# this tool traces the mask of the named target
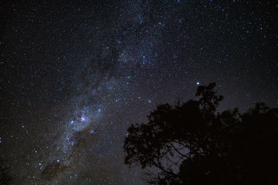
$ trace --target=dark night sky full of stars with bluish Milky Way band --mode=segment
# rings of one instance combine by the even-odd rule
[[[131,123],[216,82],[278,105],[275,1],[1,1],[0,154],[16,183],[143,184]]]

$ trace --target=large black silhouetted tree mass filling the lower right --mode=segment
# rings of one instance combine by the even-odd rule
[[[215,113],[223,99],[215,83],[196,96],[131,124],[125,163],[149,170],[150,184],[278,184],[278,109],[258,103]]]

